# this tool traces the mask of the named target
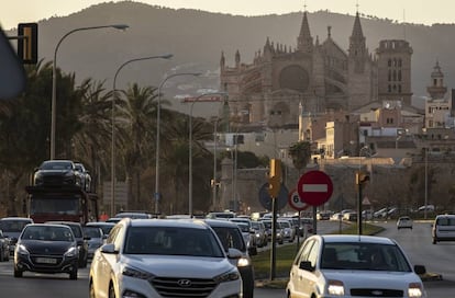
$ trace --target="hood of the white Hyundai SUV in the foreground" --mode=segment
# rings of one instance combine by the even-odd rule
[[[157,276],[213,278],[234,266],[224,257],[179,255],[130,255],[125,265],[141,268]],[[198,270],[200,268],[200,270]]]

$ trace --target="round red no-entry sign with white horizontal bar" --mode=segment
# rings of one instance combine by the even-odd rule
[[[332,196],[333,183],[324,172],[310,171],[300,176],[297,192],[302,202],[311,206],[320,206]]]

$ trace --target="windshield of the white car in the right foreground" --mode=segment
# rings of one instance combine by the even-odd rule
[[[390,244],[325,243],[320,262],[324,270],[411,271],[401,250]]]

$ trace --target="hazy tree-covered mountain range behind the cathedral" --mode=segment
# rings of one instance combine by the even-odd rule
[[[315,39],[323,42],[328,26],[335,43],[347,50],[354,24],[354,14],[332,13],[329,10],[308,13],[310,31]],[[407,39],[413,48],[412,91],[413,104],[422,106],[431,83],[431,72],[436,61],[445,74],[445,84],[455,88],[454,24],[399,23],[360,14],[362,27],[370,54],[381,39]],[[255,53],[262,50],[267,37],[275,44],[295,48],[300,31],[302,12],[242,16],[211,13],[201,10],[169,9],[134,1],[104,2],[91,5],[66,16],[30,20],[38,23],[38,55],[44,61],[53,60],[56,45],[65,34],[75,28],[107,24],[127,24],[129,28],[75,32],[66,36],[58,47],[57,67],[75,72],[81,81],[92,78],[106,81],[113,88],[113,78],[120,66],[134,58],[173,54],[169,60],[151,59],[132,62],[122,68],[116,88],[129,83],[158,87],[170,73],[202,72],[200,78],[178,76],[166,81],[164,96],[197,95],[219,88],[219,66],[223,51],[228,66],[234,65],[238,49],[241,60],[251,64]],[[13,36],[15,30],[7,35]],[[199,92],[199,93],[198,93]],[[188,105],[171,100],[173,106],[188,112]],[[198,104],[195,115],[208,116],[218,104]]]

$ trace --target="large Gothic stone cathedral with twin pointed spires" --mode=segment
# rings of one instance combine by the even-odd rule
[[[295,48],[266,39],[253,62],[220,59],[220,90],[229,93],[230,122],[241,126],[296,128],[301,113],[352,112],[374,101],[411,104],[412,48],[402,39],[366,47],[358,12],[348,48],[341,48],[328,27],[326,37],[311,35],[303,11]]]

